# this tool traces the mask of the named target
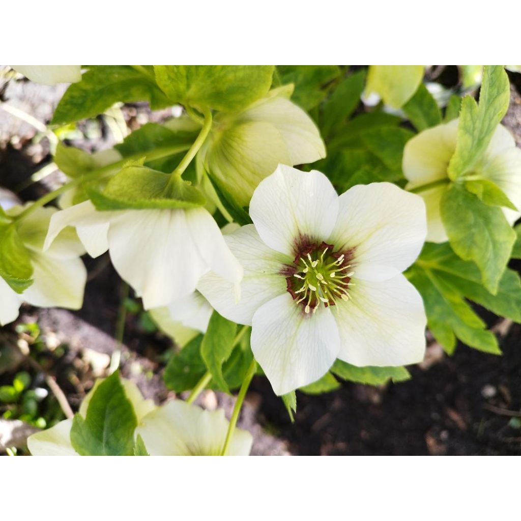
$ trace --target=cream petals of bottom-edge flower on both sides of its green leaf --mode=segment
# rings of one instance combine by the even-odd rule
[[[86,417],[89,402],[97,380],[85,396],[80,415]],[[121,378],[127,398],[134,407],[138,420],[135,437],[141,435],[151,456],[213,456],[219,455],[226,440],[228,420],[222,409],[204,411],[201,407],[181,400],[172,400],[156,407],[152,400],[144,400],[138,387]],[[70,442],[72,419],[60,421],[50,429],[29,437],[27,445],[33,456],[79,456]],[[234,429],[227,456],[247,456],[252,448],[252,435],[242,429]]]

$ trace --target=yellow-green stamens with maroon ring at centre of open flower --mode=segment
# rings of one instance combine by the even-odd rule
[[[295,259],[296,271],[288,277],[288,291],[305,313],[315,313],[320,303],[336,304],[337,299],[350,299],[349,287],[353,271],[344,254],[335,256],[332,246],[304,253]]]

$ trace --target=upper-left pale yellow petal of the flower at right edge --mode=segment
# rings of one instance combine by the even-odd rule
[[[402,169],[407,188],[448,177],[447,167],[456,150],[457,120],[424,130],[407,141]]]

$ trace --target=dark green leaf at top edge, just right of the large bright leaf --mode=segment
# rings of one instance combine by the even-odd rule
[[[326,86],[340,76],[337,65],[278,65],[280,82],[293,83],[291,97],[304,110],[316,107],[327,95]]]

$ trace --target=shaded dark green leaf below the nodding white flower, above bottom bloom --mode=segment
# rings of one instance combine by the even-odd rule
[[[192,339],[178,353],[170,357],[165,368],[165,385],[175,392],[193,389],[206,373],[206,365],[201,358],[203,335]]]

